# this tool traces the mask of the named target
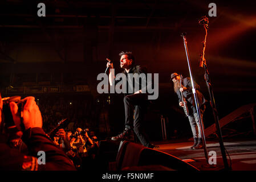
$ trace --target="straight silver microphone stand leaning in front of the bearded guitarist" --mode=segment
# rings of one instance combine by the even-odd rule
[[[197,115],[198,115],[198,118],[199,118],[199,123],[200,123],[200,130],[201,130],[201,134],[202,134],[202,142],[203,142],[203,146],[204,146],[205,159],[206,159],[206,163],[209,164],[208,151],[207,151],[206,142],[205,142],[205,133],[204,133],[203,125],[202,125],[201,111],[200,111],[200,107],[199,107],[199,104],[198,104],[196,89],[194,88],[194,81],[193,81],[193,76],[192,76],[192,71],[191,71],[190,60],[189,60],[188,47],[186,45],[185,33],[182,33],[181,36],[183,37],[183,40],[184,40],[184,46],[185,46],[185,51],[186,51],[186,59],[188,60],[189,74],[190,74],[190,79],[191,79],[191,82],[192,82],[192,92],[193,92],[194,102],[195,102],[196,109],[197,109]]]

